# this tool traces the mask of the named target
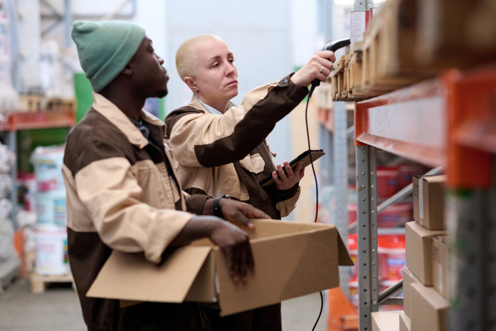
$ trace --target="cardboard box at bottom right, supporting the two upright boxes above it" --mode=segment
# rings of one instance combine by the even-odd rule
[[[449,301],[434,287],[412,284],[412,331],[448,330]]]

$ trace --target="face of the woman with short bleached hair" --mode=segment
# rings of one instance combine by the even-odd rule
[[[207,40],[197,47],[198,63],[193,77],[197,95],[205,103],[227,102],[238,95],[238,69],[222,40]]]

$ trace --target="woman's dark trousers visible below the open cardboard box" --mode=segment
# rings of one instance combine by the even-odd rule
[[[203,306],[202,310],[211,331],[282,331],[280,303],[226,317],[220,317],[216,308]]]

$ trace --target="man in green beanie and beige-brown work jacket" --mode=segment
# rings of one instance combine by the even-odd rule
[[[142,110],[146,98],[167,94],[169,79],[145,31],[122,21],[76,21],[71,35],[95,91],[67,138],[62,166],[69,262],[88,330],[208,330],[197,303],[121,308],[118,300],[86,297],[113,250],[158,264],[166,249],[206,237],[226,253],[235,281],[254,265],[248,235],[210,216],[214,199],[181,190],[164,124]],[[240,201],[215,203],[230,221],[269,218]]]

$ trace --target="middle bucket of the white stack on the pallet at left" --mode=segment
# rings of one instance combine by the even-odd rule
[[[35,195],[38,223],[67,224],[65,191],[49,191]]]

